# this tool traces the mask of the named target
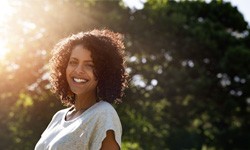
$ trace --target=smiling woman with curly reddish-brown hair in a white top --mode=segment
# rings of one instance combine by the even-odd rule
[[[121,36],[80,32],[60,41],[50,60],[52,91],[69,108],[52,118],[35,150],[118,150],[122,127],[110,103],[127,86]]]

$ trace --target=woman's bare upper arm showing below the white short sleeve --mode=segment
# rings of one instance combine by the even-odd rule
[[[114,131],[108,130],[105,139],[102,141],[101,150],[119,150],[120,147],[115,140]]]

